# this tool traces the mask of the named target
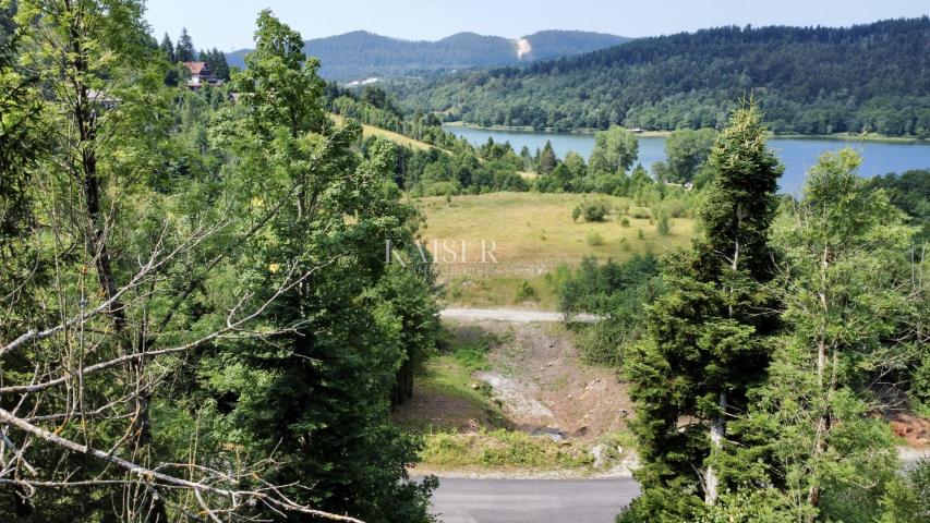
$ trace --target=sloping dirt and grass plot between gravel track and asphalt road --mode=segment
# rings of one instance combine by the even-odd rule
[[[447,320],[399,423],[426,435],[416,473],[627,475],[631,415],[615,370],[584,364],[559,324]]]

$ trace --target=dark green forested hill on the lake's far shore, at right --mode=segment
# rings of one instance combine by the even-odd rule
[[[752,93],[776,132],[930,134],[930,20],[721,27],[400,85],[409,109],[483,125],[724,125]]]

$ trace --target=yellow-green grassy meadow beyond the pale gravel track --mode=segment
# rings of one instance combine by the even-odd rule
[[[604,221],[572,220],[572,209],[585,198],[611,206]],[[492,193],[426,197],[416,205],[426,217],[422,236],[447,284],[447,297],[462,306],[551,308],[555,290],[545,275],[559,266],[578,265],[585,256],[624,260],[636,253],[660,255],[689,241],[695,228],[692,219],[673,218],[671,233],[662,235],[650,209],[601,195]],[[492,247],[496,263],[487,255]]]

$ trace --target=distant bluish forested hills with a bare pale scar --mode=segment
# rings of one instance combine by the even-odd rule
[[[438,41],[401,40],[357,31],[304,42],[304,52],[321,59],[329,80],[360,80],[439,70],[498,68],[589,52],[627,38],[580,31],[544,31],[511,40],[500,36],[458,33]],[[522,46],[520,44],[523,44]],[[227,56],[243,66],[249,49]]]

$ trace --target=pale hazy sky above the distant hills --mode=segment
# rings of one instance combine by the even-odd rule
[[[188,27],[197,48],[252,47],[255,19],[270,8],[304,39],[364,29],[436,40],[470,31],[517,38],[542,29],[655,36],[721,25],[846,26],[930,13],[926,0],[148,0],[161,39]]]

